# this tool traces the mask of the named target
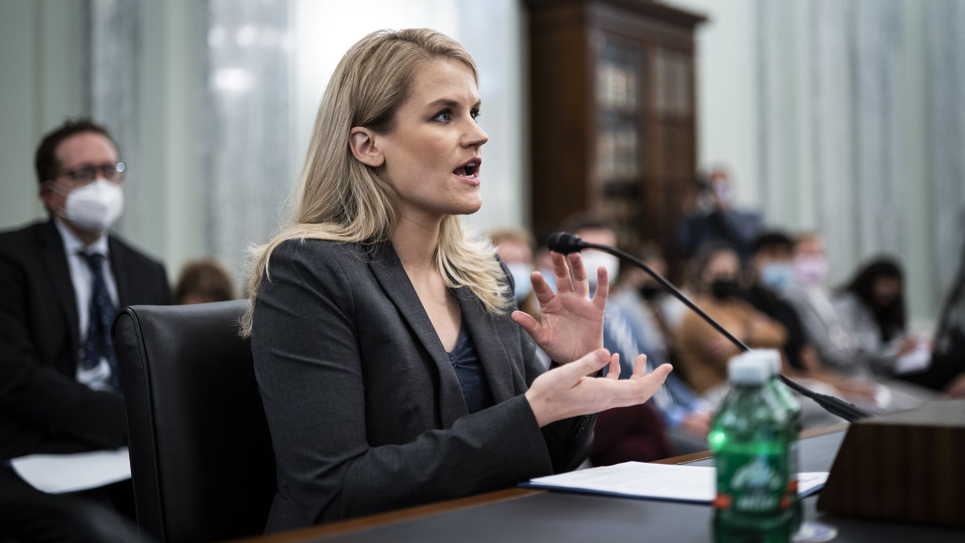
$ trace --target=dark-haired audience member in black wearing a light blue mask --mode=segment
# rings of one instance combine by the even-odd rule
[[[783,352],[788,366],[784,372],[788,376],[816,379],[848,396],[873,397],[873,386],[847,379],[822,366],[797,311],[782,300],[795,280],[793,248],[793,241],[781,232],[768,232],[758,238],[750,262],[751,286],[744,292],[744,300],[787,330]]]

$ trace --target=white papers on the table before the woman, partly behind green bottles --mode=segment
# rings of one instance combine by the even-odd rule
[[[823,486],[827,479],[827,472],[798,473],[798,494],[811,494]],[[710,503],[717,492],[717,470],[701,466],[624,462],[616,466],[538,477],[523,486],[631,498]]]

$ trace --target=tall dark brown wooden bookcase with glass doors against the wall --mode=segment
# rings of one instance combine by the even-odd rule
[[[694,29],[703,16],[646,0],[526,0],[532,218],[554,230],[593,211],[620,244],[674,259],[696,175]]]

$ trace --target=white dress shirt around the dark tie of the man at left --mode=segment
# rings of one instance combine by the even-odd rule
[[[103,255],[101,260],[101,272],[104,275],[104,282],[107,284],[107,293],[114,302],[114,307],[118,307],[118,286],[114,280],[114,273],[111,272],[110,254],[107,252],[107,235],[102,235],[90,246],[81,242],[70,229],[65,225],[60,217],[54,218],[57,231],[60,232],[61,239],[64,241],[64,252],[67,255],[67,264],[70,271],[70,282],[73,284],[73,294],[77,302],[77,324],[80,328],[80,350],[77,355],[77,382],[90,386],[95,390],[111,389],[111,367],[107,358],[101,357],[100,363],[93,369],[84,368],[80,352],[83,352],[84,341],[87,340],[87,327],[91,317],[91,296],[94,291],[94,274],[91,272],[87,261],[79,253],[96,253]]]

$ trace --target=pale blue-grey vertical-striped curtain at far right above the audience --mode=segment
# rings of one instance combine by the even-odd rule
[[[758,0],[760,196],[817,230],[831,280],[895,256],[934,319],[965,243],[965,6]]]

